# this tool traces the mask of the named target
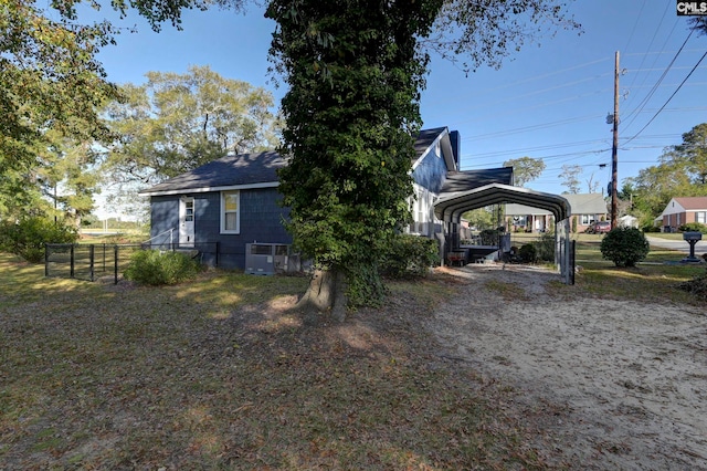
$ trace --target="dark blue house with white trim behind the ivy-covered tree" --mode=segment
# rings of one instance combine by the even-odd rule
[[[509,167],[460,170],[460,140],[458,133],[446,127],[420,132],[411,163],[413,222],[407,232],[444,238],[440,234],[446,228],[434,212],[442,196],[488,184],[513,184]],[[277,169],[285,165],[273,151],[230,155],[141,191],[150,198],[151,244],[190,248],[207,264],[246,271],[251,255],[276,259],[292,243],[283,226],[288,210],[279,205],[277,191]]]

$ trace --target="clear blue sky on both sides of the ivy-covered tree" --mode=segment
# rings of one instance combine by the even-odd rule
[[[527,185],[532,189],[567,190],[559,174],[569,164],[583,168],[582,192],[590,180],[605,191],[612,146],[606,115],[613,113],[616,51],[623,71],[620,181],[656,164],[665,147],[682,143],[683,133],[707,122],[707,60],[686,80],[707,52],[707,36],[694,33],[688,40],[687,21],[676,15],[675,4],[674,0],[570,2],[583,34],[561,30],[541,36],[539,44],[515,52],[500,70],[486,67],[466,76],[433,57],[422,98],[424,126],[461,133],[462,169],[499,167],[529,156],[542,158],[547,167]],[[262,10],[189,11],[182,31],[166,25],[154,33],[135,14],[123,24],[137,24],[138,32],[119,35],[118,45],[99,55],[113,82],[137,84],[148,71],[184,73],[189,65],[209,65],[225,77],[263,86],[277,100],[285,93],[267,75],[274,23],[263,18]]]

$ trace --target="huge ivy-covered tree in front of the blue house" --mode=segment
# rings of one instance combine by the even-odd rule
[[[499,51],[528,36],[519,18],[555,20],[556,7],[544,0],[483,8],[443,0],[270,1],[266,15],[277,22],[271,54],[289,86],[282,148],[289,165],[279,188],[296,245],[321,269],[303,305],[334,305],[339,313],[344,292],[349,305],[383,296],[378,263],[409,218],[411,135],[421,124],[430,49],[465,53],[472,67],[497,65]]]

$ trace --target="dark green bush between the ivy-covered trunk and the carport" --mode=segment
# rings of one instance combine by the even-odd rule
[[[440,248],[433,239],[398,234],[381,261],[381,273],[392,278],[424,276],[440,260]]]

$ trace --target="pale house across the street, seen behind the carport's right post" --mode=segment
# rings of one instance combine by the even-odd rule
[[[584,232],[594,222],[608,219],[606,201],[601,193],[562,195],[570,203],[572,213],[570,221],[577,232]],[[510,232],[545,232],[555,224],[549,211],[531,208],[525,205],[506,205],[506,224]]]

